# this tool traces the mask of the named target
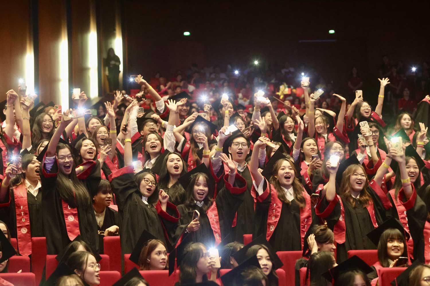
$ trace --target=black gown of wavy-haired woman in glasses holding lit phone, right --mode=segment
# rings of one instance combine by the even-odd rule
[[[370,189],[370,188],[369,188]],[[369,191],[368,189],[368,191]],[[372,191],[371,191],[372,192]],[[369,192],[370,193],[370,192]],[[371,193],[372,196],[372,193]],[[347,200],[342,199],[345,211],[345,242],[343,244],[337,244],[337,259],[338,263],[348,259],[348,250],[367,250],[376,249],[377,246],[367,237],[367,234],[374,230],[372,219],[369,215],[369,211],[361,205],[359,200],[356,200],[356,207],[354,208]],[[384,208],[378,200],[373,199],[375,217],[379,224],[384,222],[384,218],[381,216],[381,211]],[[324,211],[329,205],[329,202],[324,196],[317,207],[319,211]],[[327,226],[333,230],[335,224],[338,222],[341,216],[341,205],[338,202],[331,214],[326,217]]]

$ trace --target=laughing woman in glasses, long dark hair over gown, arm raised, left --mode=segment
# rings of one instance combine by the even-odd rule
[[[43,229],[48,254],[59,253],[77,235],[81,235],[93,250],[98,251],[97,223],[89,190],[77,178],[70,145],[58,143],[60,135],[71,122],[67,118],[68,111],[65,111],[42,160]],[[90,177],[100,180],[100,169],[94,166],[90,170],[92,174],[80,176],[82,180]],[[82,168],[87,171],[89,167]]]

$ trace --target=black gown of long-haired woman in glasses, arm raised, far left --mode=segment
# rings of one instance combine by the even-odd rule
[[[93,170],[98,172],[98,176],[100,176],[100,167]],[[46,236],[47,254],[58,254],[71,242],[64,222],[61,196],[55,187],[57,184],[57,174],[58,166],[56,163],[52,166],[51,173],[46,173],[45,169],[40,173],[40,181],[42,183],[43,232]],[[87,182],[91,181],[88,180]],[[83,183],[85,185],[85,181]],[[97,222],[95,221],[92,205],[78,205],[77,212],[81,237],[94,251],[98,251]]]

